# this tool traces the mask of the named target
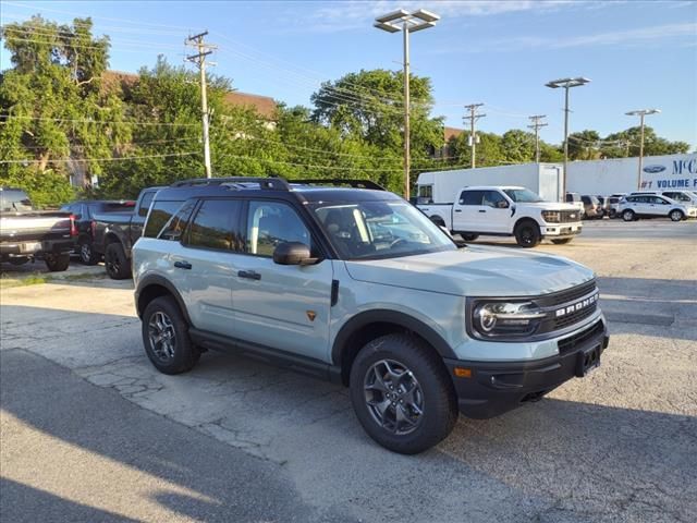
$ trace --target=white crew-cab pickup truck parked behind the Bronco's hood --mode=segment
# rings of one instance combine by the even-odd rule
[[[535,247],[543,238],[568,243],[583,228],[575,206],[545,202],[525,187],[472,186],[454,196],[452,204],[417,206],[435,223],[469,242],[480,234],[515,236],[522,247]]]

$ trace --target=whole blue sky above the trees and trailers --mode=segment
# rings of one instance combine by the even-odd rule
[[[478,127],[525,129],[547,114],[541,136],[560,143],[561,90],[550,80],[586,76],[572,90],[571,131],[626,129],[628,110],[659,108],[647,123],[697,148],[697,2],[694,1],[332,1],[332,2],[21,2],[2,1],[2,23],[41,13],[58,22],[93,16],[112,39],[111,68],[137,71],[159,53],[181,63],[183,40],[208,29],[219,46],[215,72],[240,90],[309,105],[325,80],[360,69],[399,69],[399,34],[372,27],[395,9],[441,15],[412,36],[412,68],[431,77],[435,115],[463,126],[463,106],[484,102]],[[10,65],[2,49],[0,66]]]

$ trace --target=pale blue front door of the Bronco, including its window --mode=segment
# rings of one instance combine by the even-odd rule
[[[278,265],[273,263],[273,250],[282,242],[305,243],[316,255],[316,243],[293,207],[284,202],[249,202],[245,254],[235,256],[235,336],[326,361],[331,260],[309,266]]]

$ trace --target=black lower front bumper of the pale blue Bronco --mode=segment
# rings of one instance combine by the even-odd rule
[[[530,362],[468,362],[444,360],[453,378],[460,412],[484,419],[536,401],[564,381],[583,376],[588,354],[598,356],[610,337],[604,321],[598,321],[559,340],[559,354]],[[457,377],[456,368],[469,369]]]

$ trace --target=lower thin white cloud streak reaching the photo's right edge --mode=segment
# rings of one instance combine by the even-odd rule
[[[540,37],[521,36],[513,38],[500,38],[479,41],[477,46],[450,47],[436,51],[438,54],[451,52],[506,52],[528,49],[570,49],[575,47],[639,47],[644,44],[656,45],[661,40],[674,40],[677,38],[697,38],[697,23],[678,23],[655,25],[609,33],[596,33],[591,35]]]

